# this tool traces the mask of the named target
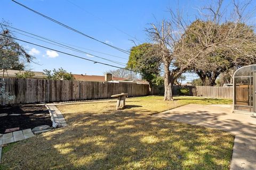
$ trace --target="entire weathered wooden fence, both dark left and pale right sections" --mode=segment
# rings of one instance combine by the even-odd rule
[[[132,97],[159,95],[164,92],[163,87],[151,89],[150,92],[148,84],[46,79],[4,78],[4,86],[5,91],[14,96],[14,99],[2,100],[0,101],[1,105],[107,99],[111,98],[111,95],[120,94],[121,92]],[[233,87],[173,86],[173,95],[181,95],[179,92],[181,88],[189,89],[187,95],[190,96],[233,98]]]

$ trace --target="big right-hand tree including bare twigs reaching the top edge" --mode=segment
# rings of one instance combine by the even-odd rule
[[[197,20],[185,27],[177,45],[183,49],[180,58],[191,60],[190,69],[204,85],[213,86],[220,73],[233,73],[237,67],[256,62],[254,28],[244,18],[250,2],[242,5],[234,1],[233,12],[227,14],[218,1],[199,10]]]

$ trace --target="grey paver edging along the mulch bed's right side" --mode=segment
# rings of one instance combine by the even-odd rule
[[[67,126],[67,122],[66,122],[64,116],[62,115],[62,113],[59,111],[59,109],[56,106],[45,105],[45,107],[48,109],[48,111],[50,113],[51,120],[52,120],[53,124],[57,124],[57,126],[59,126],[59,127]]]

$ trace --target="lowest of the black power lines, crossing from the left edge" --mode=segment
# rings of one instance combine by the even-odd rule
[[[66,55],[69,55],[69,56],[73,56],[73,57],[76,57],[76,58],[81,58],[81,59],[83,59],[83,60],[87,60],[87,61],[93,62],[94,64],[99,63],[99,64],[103,64],[103,65],[108,65],[108,66],[111,66],[111,67],[116,67],[116,68],[118,68],[118,69],[124,69],[124,70],[133,71],[133,70],[126,69],[126,68],[123,68],[123,67],[118,67],[118,66],[111,65],[111,64],[106,64],[106,63],[102,63],[102,62],[97,62],[97,61],[94,61],[94,60],[90,60],[90,59],[88,59],[88,58],[84,58],[84,57],[81,57],[81,56],[77,56],[77,55],[69,54],[69,53],[62,52],[62,51],[57,50],[57,49],[53,49],[53,48],[49,48],[49,47],[45,47],[45,46],[38,45],[38,44],[35,44],[35,43],[30,43],[29,41],[21,40],[21,39],[14,38],[14,37],[11,37],[11,36],[6,36],[6,35],[3,35],[2,33],[0,33],[0,35],[1,35],[1,36],[5,36],[5,37],[9,37],[9,38],[12,38],[12,39],[15,39],[15,40],[18,40],[18,41],[22,41],[22,42],[24,42],[24,43],[28,43],[28,44],[31,44],[31,45],[35,45],[35,46],[38,46],[38,47],[42,47],[42,48],[46,48],[46,49],[50,49],[50,50],[54,50],[55,52],[59,52],[59,53],[66,54]],[[135,72],[135,71],[133,71],[133,72]]]

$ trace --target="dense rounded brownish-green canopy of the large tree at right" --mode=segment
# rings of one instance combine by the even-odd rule
[[[180,42],[181,55],[193,61],[191,69],[205,86],[213,86],[223,72],[256,62],[256,36],[245,23],[196,20]]]

